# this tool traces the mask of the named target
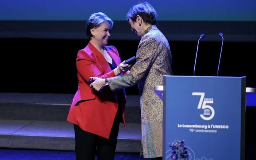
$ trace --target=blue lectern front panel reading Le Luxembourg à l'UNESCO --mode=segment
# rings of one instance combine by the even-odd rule
[[[169,143],[184,140],[189,160],[242,160],[245,79],[165,76],[164,157],[178,153]]]

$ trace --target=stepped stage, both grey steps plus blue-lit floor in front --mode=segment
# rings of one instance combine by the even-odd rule
[[[75,160],[74,130],[66,122],[71,94],[0,93],[0,160]],[[256,107],[246,108],[246,159],[256,150]],[[128,96],[115,160],[141,160],[140,102]]]

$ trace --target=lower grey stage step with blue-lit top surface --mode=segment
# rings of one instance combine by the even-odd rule
[[[120,124],[116,152],[140,152],[141,125]],[[73,124],[60,121],[0,120],[0,148],[74,150]]]

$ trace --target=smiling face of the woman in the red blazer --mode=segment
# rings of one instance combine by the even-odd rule
[[[110,24],[108,22],[103,22],[98,28],[92,28],[91,33],[94,35],[94,40],[99,45],[107,45],[108,38],[110,37]]]

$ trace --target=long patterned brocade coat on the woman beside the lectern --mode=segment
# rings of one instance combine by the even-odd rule
[[[163,85],[163,75],[172,75],[172,55],[166,37],[153,25],[140,40],[136,64],[130,74],[108,78],[111,90],[138,84],[141,109],[141,154],[144,158],[162,156],[162,100],[154,93],[154,86]]]

